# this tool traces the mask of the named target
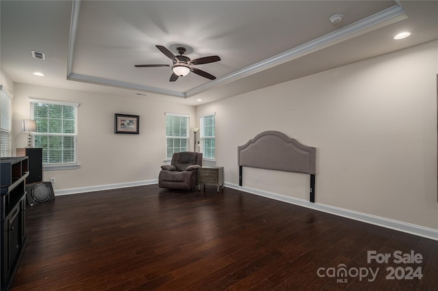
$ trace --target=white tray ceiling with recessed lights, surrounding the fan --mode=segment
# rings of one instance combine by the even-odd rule
[[[438,1],[1,1],[16,83],[201,105],[438,39]],[[340,23],[331,16],[343,14]],[[394,40],[400,31],[409,38]],[[155,45],[221,60],[170,82]],[[31,50],[45,53],[35,59]],[[43,72],[36,77],[33,72]],[[202,99],[202,101],[198,101]]]

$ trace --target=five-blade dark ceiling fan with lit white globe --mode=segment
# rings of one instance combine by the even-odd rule
[[[198,59],[190,59],[189,57],[186,57],[183,55],[185,53],[185,48],[182,46],[177,47],[177,51],[179,55],[174,55],[171,51],[168,50],[168,48],[164,46],[156,45],[156,47],[164,53],[169,59],[172,59],[172,65],[165,65],[165,64],[159,64],[159,65],[135,65],[137,68],[151,68],[151,67],[170,67],[172,68],[172,75],[170,76],[170,82],[175,82],[179,77],[186,76],[189,72],[194,72],[195,74],[198,74],[199,76],[202,76],[204,78],[214,80],[216,77],[214,77],[212,74],[209,74],[203,70],[199,70],[198,68],[193,68],[194,65],[201,65],[201,64],[209,64],[213,63],[214,61],[220,61],[220,57],[217,55],[211,55],[209,57],[200,57]]]

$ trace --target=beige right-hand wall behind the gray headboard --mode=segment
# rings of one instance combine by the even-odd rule
[[[238,184],[237,146],[278,130],[317,148],[317,203],[438,230],[437,51],[430,42],[196,113],[216,112],[229,184]],[[244,186],[309,199],[307,175],[244,168]]]

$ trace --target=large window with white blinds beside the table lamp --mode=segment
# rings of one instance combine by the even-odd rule
[[[42,148],[46,166],[77,165],[77,107],[66,102],[31,100],[31,119],[36,122],[34,147]]]

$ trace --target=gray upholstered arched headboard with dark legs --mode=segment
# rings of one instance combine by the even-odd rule
[[[279,131],[269,130],[237,147],[237,164],[240,186],[242,167],[310,174],[310,201],[315,202],[316,148],[304,146]]]

